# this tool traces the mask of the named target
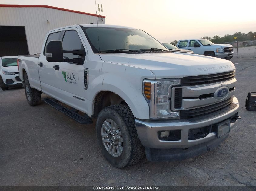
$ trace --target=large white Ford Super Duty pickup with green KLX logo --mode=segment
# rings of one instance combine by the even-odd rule
[[[230,61],[174,54],[131,27],[51,30],[40,56],[18,56],[18,65],[28,103],[39,104],[44,93],[46,103],[79,123],[97,119],[102,154],[118,168],[145,153],[149,161],[202,154],[240,119]]]

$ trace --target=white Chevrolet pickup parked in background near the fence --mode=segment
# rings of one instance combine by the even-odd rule
[[[233,46],[230,44],[214,44],[207,39],[179,40],[177,46],[180,49],[191,50],[194,54],[201,54],[230,60],[233,58]]]

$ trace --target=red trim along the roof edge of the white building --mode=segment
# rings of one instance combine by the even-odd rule
[[[57,10],[61,10],[61,11],[68,11],[68,12],[79,13],[79,14],[87,14],[87,15],[91,15],[91,16],[95,16],[95,17],[105,18],[105,16],[101,16],[101,15],[98,15],[98,14],[85,13],[85,12],[81,12],[81,11],[74,11],[74,10],[70,10],[70,9],[64,9],[64,8],[53,7],[53,6],[48,6],[48,5],[8,5],[8,4],[0,4],[0,7],[43,7],[43,8],[57,9]]]

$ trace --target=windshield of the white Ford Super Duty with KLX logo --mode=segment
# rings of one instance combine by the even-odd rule
[[[138,29],[115,27],[98,27],[97,29],[97,27],[84,27],[83,31],[94,53],[109,50],[135,50],[141,52],[140,49],[151,48],[154,48],[154,51],[156,49],[169,51],[153,37]]]

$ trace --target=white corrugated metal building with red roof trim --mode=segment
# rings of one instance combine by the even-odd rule
[[[105,16],[47,5],[0,4],[0,56],[39,53],[49,30],[73,24],[105,24]]]

